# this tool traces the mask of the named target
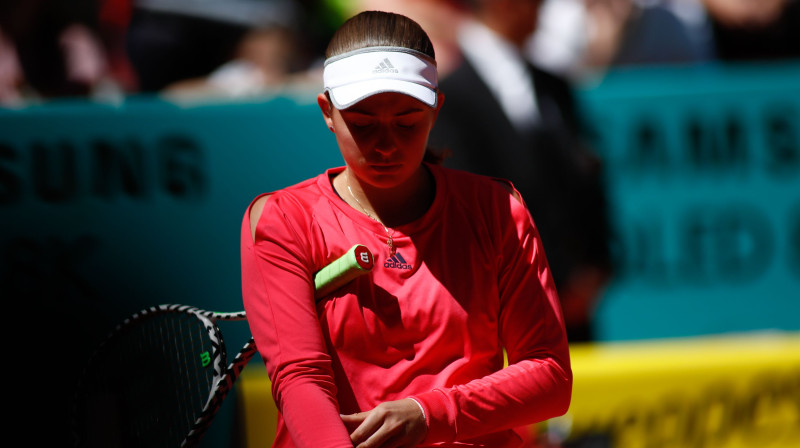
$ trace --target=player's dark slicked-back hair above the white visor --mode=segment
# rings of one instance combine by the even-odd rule
[[[383,11],[364,11],[347,19],[334,33],[325,57],[369,47],[403,47],[436,59],[428,34],[406,16]]]

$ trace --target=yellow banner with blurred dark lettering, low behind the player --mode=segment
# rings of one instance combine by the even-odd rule
[[[800,447],[800,333],[579,344],[569,412],[549,443],[616,448]],[[237,384],[247,447],[270,446],[277,411],[259,363]]]

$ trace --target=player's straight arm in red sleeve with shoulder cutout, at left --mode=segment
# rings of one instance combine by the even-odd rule
[[[259,198],[242,222],[242,297],[248,322],[294,444],[351,448],[316,313],[311,263],[303,258],[311,252],[307,235],[275,202]]]

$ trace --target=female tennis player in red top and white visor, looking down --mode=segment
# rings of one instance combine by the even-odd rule
[[[572,391],[524,201],[426,160],[444,96],[418,24],[361,13],[326,57],[318,103],[346,166],[256,198],[242,226],[274,446],[519,446],[514,428],[563,414]],[[375,268],[315,302],[313,273],[353,244]]]

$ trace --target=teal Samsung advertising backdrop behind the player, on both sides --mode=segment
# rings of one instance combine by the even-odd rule
[[[617,70],[579,94],[615,229],[600,341],[800,330],[800,64]],[[131,312],[241,309],[251,199],[341,164],[312,92],[0,110],[0,297],[31,415],[68,414]],[[234,419],[226,405],[209,446]],[[63,437],[55,420],[34,437]]]

